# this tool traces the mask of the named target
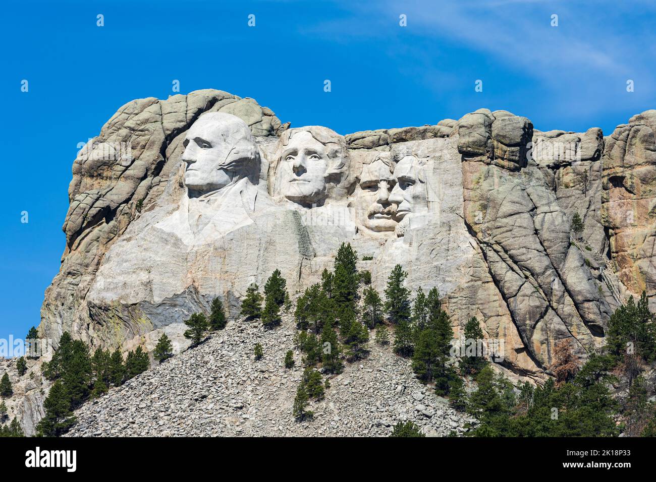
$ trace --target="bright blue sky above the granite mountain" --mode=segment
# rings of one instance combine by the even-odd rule
[[[608,135],[656,108],[656,6],[646,0],[23,1],[3,11],[0,338],[39,324],[64,251],[77,144],[129,100],[173,94],[174,79],[182,93],[227,90],[293,126],[342,134],[486,107],[543,131]]]

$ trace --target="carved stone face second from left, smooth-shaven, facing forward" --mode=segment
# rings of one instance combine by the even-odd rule
[[[295,203],[316,203],[325,196],[330,159],[310,132],[295,133],[281,155],[281,192]]]

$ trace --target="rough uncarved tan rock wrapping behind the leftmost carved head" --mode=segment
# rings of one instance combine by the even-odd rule
[[[201,113],[216,111],[241,117],[258,136],[276,136],[285,129],[271,110],[253,99],[198,90],[167,100],[129,102],[78,153],[63,227],[66,248],[60,272],[45,294],[41,336],[58,340],[69,331],[99,345],[150,331],[152,323],[126,315],[119,306],[96,306],[84,300],[104,255],[138,212],[163,197],[174,202],[180,196],[175,177],[180,168],[180,136]]]

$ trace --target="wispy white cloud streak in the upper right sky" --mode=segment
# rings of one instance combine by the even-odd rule
[[[414,56],[426,78],[453,77],[459,70],[471,73],[480,66],[481,71],[491,72],[488,79],[493,74],[532,79],[529,85],[535,102],[550,102],[544,108],[570,118],[590,117],[600,110],[644,110],[656,102],[656,4],[647,0],[336,4],[341,10],[337,18],[305,28],[345,44],[364,37],[380,39],[388,50],[394,49],[390,45],[395,40],[398,50],[414,43],[418,46]],[[398,28],[400,14],[407,15],[407,29]],[[557,27],[551,26],[552,14],[558,15]],[[426,45],[434,45],[434,50],[422,50]],[[440,49],[462,50],[461,64],[437,62]],[[453,56],[449,60],[453,62]],[[640,85],[628,97],[627,79]],[[524,92],[526,86],[521,86]],[[434,89],[441,88],[442,83],[435,83]],[[497,100],[509,104],[514,99],[509,93]]]

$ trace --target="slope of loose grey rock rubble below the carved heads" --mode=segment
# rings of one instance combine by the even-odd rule
[[[267,331],[260,323],[231,321],[203,344],[184,351],[75,412],[66,436],[323,435],[385,436],[400,420],[413,420],[426,435],[465,431],[472,422],[415,378],[410,361],[369,343],[369,357],[329,376],[330,388],[297,422],[292,405],[302,376],[285,369],[296,332],[289,317]],[[255,361],[253,346],[264,357]]]

